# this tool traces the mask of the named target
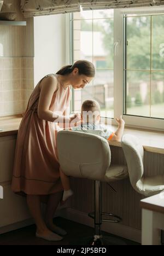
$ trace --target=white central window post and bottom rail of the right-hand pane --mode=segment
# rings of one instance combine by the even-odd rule
[[[150,10],[151,10],[151,14],[156,14],[156,10],[154,12],[152,11],[152,9]],[[147,117],[137,117],[137,116],[134,117],[131,115],[123,115],[124,113],[123,11],[125,13],[125,10],[122,10],[122,9],[114,10],[114,42],[119,42],[117,54],[116,56],[114,56],[114,118],[122,115],[123,119],[125,120],[126,126],[128,127],[164,131],[164,120],[157,119],[157,118],[147,118]],[[133,13],[135,13],[135,11],[136,10],[133,10]],[[131,14],[132,14],[132,11],[131,11]],[[139,14],[139,11],[137,11],[137,14]],[[115,121],[113,122],[113,124],[116,124]]]

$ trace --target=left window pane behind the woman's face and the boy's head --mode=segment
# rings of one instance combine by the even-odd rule
[[[114,117],[113,10],[82,11],[72,15],[73,62],[85,59],[94,63],[96,77],[83,90],[74,91],[74,111],[87,99],[97,100],[101,115]]]

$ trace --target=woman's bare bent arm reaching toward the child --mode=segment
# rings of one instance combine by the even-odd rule
[[[48,77],[43,79],[41,83],[42,87],[38,103],[38,117],[46,121],[58,123],[59,116],[55,115],[51,110],[49,110],[52,96],[57,90],[57,80],[55,77]],[[66,117],[62,117],[62,120],[64,123],[69,122],[68,118]]]

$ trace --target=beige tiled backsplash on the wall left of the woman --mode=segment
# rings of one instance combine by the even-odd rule
[[[0,58],[1,117],[24,113],[33,88],[33,58]]]

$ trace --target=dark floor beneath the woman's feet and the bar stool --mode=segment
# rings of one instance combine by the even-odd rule
[[[86,242],[83,242],[82,238],[93,235],[94,230],[89,226],[63,218],[56,218],[54,222],[68,232],[60,242],[49,242],[37,238],[35,236],[36,226],[31,225],[0,235],[0,245],[87,245]],[[103,232],[103,235],[109,237],[108,233]],[[110,235],[110,237],[112,237],[113,241],[117,239],[117,237],[113,235]],[[121,243],[122,241],[125,245],[139,245],[139,243],[121,238]],[[112,245],[112,243],[110,244]]]

